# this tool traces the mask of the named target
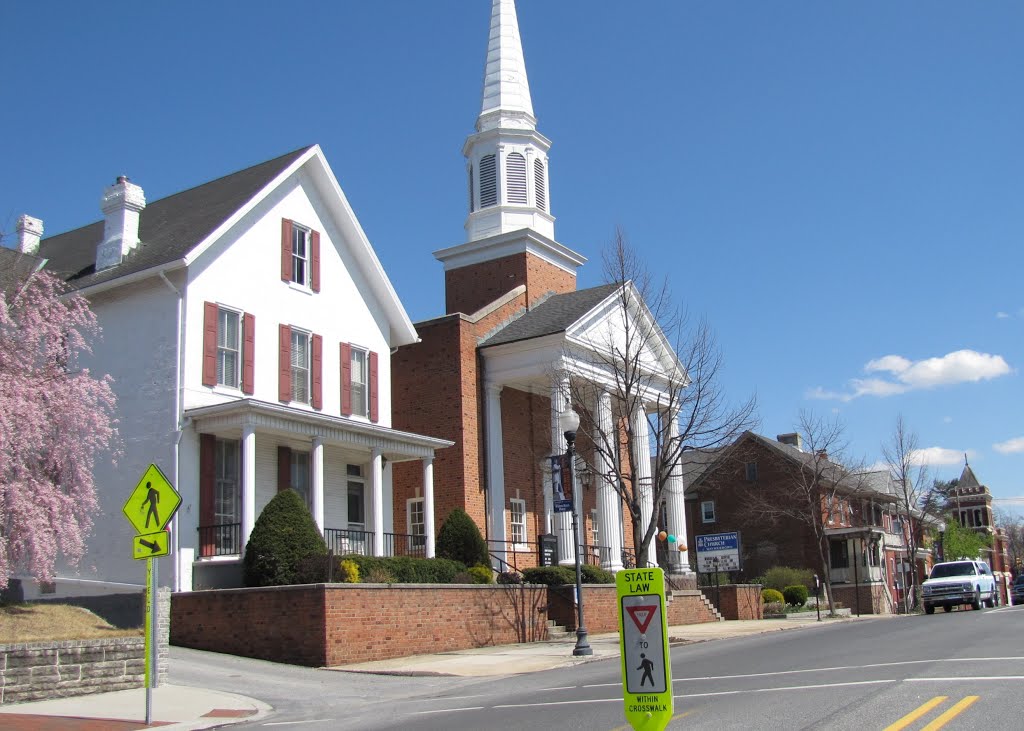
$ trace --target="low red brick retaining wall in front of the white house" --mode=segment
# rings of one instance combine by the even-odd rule
[[[305,585],[175,594],[171,642],[325,666],[547,639],[531,585]]]

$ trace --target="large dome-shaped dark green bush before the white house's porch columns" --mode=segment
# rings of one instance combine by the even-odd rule
[[[247,587],[280,587],[308,580],[303,563],[327,555],[327,544],[299,493],[273,497],[253,526],[243,560]],[[323,579],[322,579],[323,580]]]

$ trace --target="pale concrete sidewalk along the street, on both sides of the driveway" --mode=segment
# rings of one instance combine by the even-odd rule
[[[785,619],[717,621],[669,628],[673,646],[786,630],[825,629],[842,622],[879,619],[879,616],[842,617],[816,621],[814,614]],[[480,647],[393,660],[329,668],[331,671],[379,675],[486,676],[519,675],[618,657],[618,634],[592,635],[594,654],[573,657],[572,639],[521,645]],[[266,703],[232,693],[204,688],[162,685],[153,690],[153,724],[145,725],[145,690],[80,695],[58,700],[0,705],[0,728],[10,731],[133,731],[160,727],[166,731],[207,729],[259,719],[271,711]]]

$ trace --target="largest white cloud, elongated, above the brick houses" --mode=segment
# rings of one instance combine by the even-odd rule
[[[808,391],[807,397],[851,401],[860,396],[895,396],[918,389],[988,381],[1012,373],[1012,369],[1001,355],[956,350],[924,360],[883,355],[868,360],[864,372],[888,374],[888,378],[854,378],[849,381],[849,390],[845,392],[828,391],[818,386]]]

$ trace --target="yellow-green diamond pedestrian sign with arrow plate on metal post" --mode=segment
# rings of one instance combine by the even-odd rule
[[[158,556],[171,552],[167,525],[181,505],[181,496],[160,468],[150,465],[142,479],[128,496],[122,511],[135,528],[132,558],[145,559],[145,724],[153,723],[153,688],[159,676],[157,668],[157,562]]]

